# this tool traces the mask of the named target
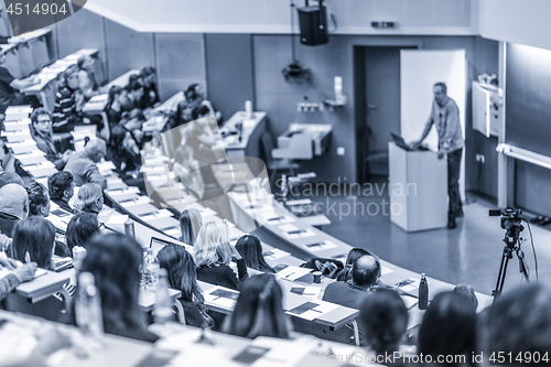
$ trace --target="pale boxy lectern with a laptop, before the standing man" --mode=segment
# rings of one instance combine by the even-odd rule
[[[447,160],[388,145],[390,220],[406,231],[447,225]]]

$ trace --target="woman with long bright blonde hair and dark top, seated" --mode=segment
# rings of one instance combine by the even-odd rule
[[[228,237],[228,227],[224,224],[206,223],[199,229],[193,255],[198,280],[237,290],[239,281],[248,278],[247,265],[239,252],[229,245]],[[229,267],[233,258],[237,261],[239,279]]]

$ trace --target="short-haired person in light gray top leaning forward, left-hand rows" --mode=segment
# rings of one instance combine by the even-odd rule
[[[75,185],[82,186],[85,183],[95,183],[101,188],[107,187],[107,182],[96,165],[105,156],[106,150],[105,140],[95,138],[85,144],[83,151],[71,155],[64,171],[73,174]]]

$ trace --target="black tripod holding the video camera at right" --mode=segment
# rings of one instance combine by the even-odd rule
[[[525,229],[519,223],[508,223],[506,225],[506,234],[504,238],[505,247],[501,255],[501,265],[499,267],[499,274],[497,276],[496,289],[491,292],[494,302],[501,295],[504,289],[505,276],[507,274],[507,266],[509,260],[512,259],[512,252],[517,253],[519,261],[519,271],[522,273],[527,281],[530,281],[528,274],[528,266],[525,260],[525,252],[520,249],[520,233]]]

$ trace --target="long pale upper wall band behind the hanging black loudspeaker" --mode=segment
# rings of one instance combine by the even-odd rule
[[[337,20],[337,34],[472,35],[478,33],[478,1],[325,0],[324,4]],[[305,1],[294,3],[303,7]],[[139,32],[291,33],[289,0],[88,0],[85,8]],[[296,12],[294,21],[298,24]],[[371,21],[392,21],[397,26],[374,29]],[[331,21],[328,28],[333,32]]]

